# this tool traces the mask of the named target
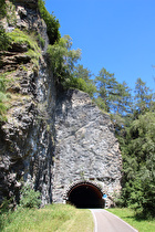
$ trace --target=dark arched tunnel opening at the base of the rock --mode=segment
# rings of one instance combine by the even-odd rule
[[[81,182],[73,186],[68,192],[68,203],[76,208],[104,208],[103,193],[93,183]]]

